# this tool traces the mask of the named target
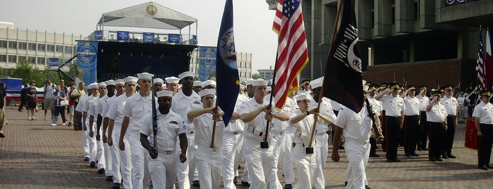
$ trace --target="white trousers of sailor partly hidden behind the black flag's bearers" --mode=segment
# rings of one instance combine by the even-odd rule
[[[317,168],[315,169],[315,188],[325,188],[324,166],[329,152],[329,135],[327,133],[315,133],[315,146],[317,147]]]

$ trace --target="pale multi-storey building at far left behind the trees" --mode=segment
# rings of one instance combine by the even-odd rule
[[[16,68],[16,63],[27,60],[40,69],[46,68],[49,58],[75,55],[76,40],[82,35],[20,30],[13,23],[0,23],[0,67]],[[68,57],[68,59],[71,57]]]

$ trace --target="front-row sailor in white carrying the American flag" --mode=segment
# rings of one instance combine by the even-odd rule
[[[289,116],[285,113],[272,113],[269,102],[264,101],[267,80],[257,79],[251,81],[254,92],[253,99],[240,105],[238,113],[245,122],[243,150],[245,152],[245,164],[248,169],[250,188],[276,188],[278,183],[270,183],[270,173],[274,166],[274,154],[269,138],[265,139],[267,121],[272,118],[287,121]],[[268,133],[270,136],[270,133]],[[262,146],[260,144],[263,144]],[[268,146],[267,146],[267,145]],[[263,147],[263,148],[262,148]]]

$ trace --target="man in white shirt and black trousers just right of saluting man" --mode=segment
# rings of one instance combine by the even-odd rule
[[[420,99],[415,97],[416,87],[409,85],[404,97],[404,154],[406,157],[418,157],[416,142],[420,128]]]

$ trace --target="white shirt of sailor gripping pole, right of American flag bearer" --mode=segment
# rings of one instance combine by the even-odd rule
[[[291,114],[291,118],[300,114],[306,114],[306,112],[301,112],[298,109]],[[305,118],[298,123],[291,124],[292,127],[296,128],[295,135],[293,135],[293,142],[296,144],[305,144],[305,146],[310,144],[309,140],[312,135],[313,121],[315,121],[315,119],[313,118],[313,115],[310,114],[305,116]]]

